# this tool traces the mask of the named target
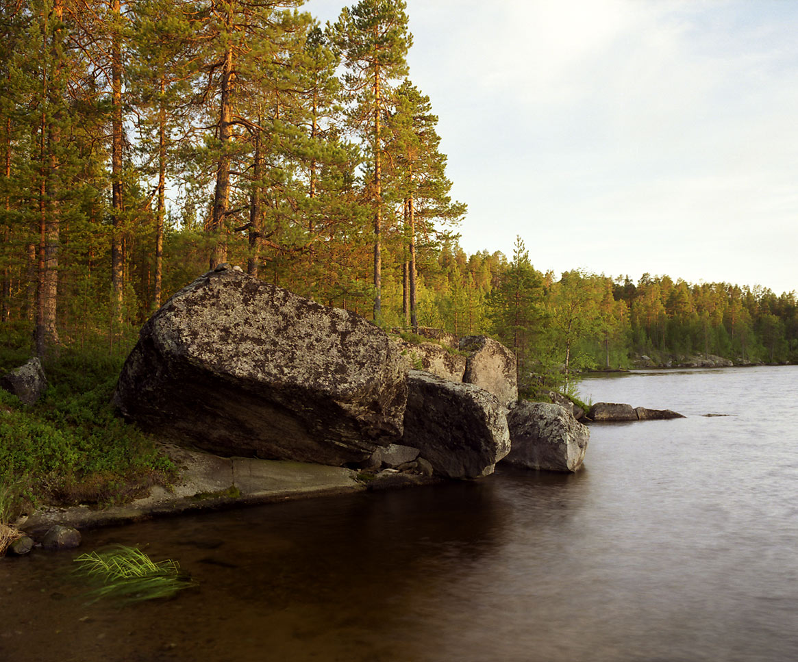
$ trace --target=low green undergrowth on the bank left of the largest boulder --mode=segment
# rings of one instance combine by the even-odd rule
[[[30,357],[22,338],[3,340],[0,372]],[[61,347],[44,362],[49,387],[31,406],[0,390],[0,485],[15,486],[6,518],[41,502],[125,502],[174,478],[176,467],[152,437],[111,404],[128,349]]]

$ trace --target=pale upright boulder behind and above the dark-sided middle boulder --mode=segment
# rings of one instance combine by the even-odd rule
[[[476,384],[507,405],[518,400],[516,355],[500,342],[485,336],[460,339],[460,351],[468,353],[463,381]]]

